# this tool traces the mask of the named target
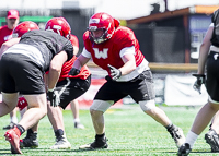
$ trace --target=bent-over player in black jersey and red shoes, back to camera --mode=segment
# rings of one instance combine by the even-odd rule
[[[68,24],[64,19],[64,23]],[[51,104],[57,104],[54,93],[62,64],[73,57],[69,29],[65,36],[57,33],[33,29],[20,38],[19,43],[5,43],[0,49],[0,82],[2,82],[2,101],[0,117],[16,107],[19,93],[24,96],[28,109],[15,128],[8,130],[5,140],[11,144],[13,154],[22,154],[20,136],[47,115],[47,97],[44,74],[48,72],[47,91]],[[5,50],[5,49],[7,50]]]

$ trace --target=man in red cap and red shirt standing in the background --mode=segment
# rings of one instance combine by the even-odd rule
[[[12,31],[19,24],[19,11],[11,9],[7,13],[7,25],[0,27],[0,48],[1,45],[12,38]],[[23,112],[21,112],[21,117]],[[12,129],[18,123],[16,108],[10,112],[10,124],[3,127],[3,130]]]

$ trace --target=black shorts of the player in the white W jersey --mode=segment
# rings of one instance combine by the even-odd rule
[[[139,103],[155,98],[150,70],[143,71],[139,76],[128,82],[116,82],[108,76],[106,80],[107,82],[99,89],[94,99],[116,103],[129,95],[136,103]]]

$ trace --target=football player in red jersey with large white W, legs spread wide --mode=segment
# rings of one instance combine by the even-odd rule
[[[74,61],[69,74],[77,75],[81,67],[92,58],[95,64],[108,72],[108,75],[107,82],[99,89],[90,107],[96,133],[95,141],[79,148],[107,148],[103,113],[127,95],[140,105],[143,112],[165,127],[180,147],[185,136],[182,129],[174,125],[165,112],[155,106],[152,74],[148,61],[139,50],[134,32],[119,26],[118,20],[101,12],[91,16],[83,41],[83,51]]]

